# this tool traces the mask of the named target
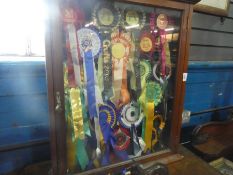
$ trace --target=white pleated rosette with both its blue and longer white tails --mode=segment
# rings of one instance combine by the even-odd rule
[[[99,157],[100,151],[100,139],[101,132],[99,127],[99,118],[97,113],[97,102],[101,102],[101,96],[99,89],[96,86],[96,73],[94,66],[94,59],[98,58],[101,50],[101,41],[98,33],[89,28],[81,28],[77,31],[78,42],[81,56],[84,59],[84,70],[86,79],[86,90],[87,90],[87,103],[88,111],[91,119],[95,123],[95,134],[97,141],[96,154]]]

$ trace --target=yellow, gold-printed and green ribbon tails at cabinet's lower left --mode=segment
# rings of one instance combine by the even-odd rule
[[[81,94],[79,88],[71,87],[72,84],[67,76],[67,68],[64,67],[64,86],[65,86],[65,114],[67,118],[67,130],[68,133],[72,132],[73,137],[70,135],[67,137],[67,147],[69,148],[67,153],[68,165],[73,167],[74,155],[82,170],[86,168],[89,162],[89,158],[85,149],[84,139],[84,122]],[[71,127],[72,126],[72,127]],[[87,132],[89,127],[87,127]],[[70,139],[69,139],[70,138]],[[73,163],[72,163],[73,162]]]

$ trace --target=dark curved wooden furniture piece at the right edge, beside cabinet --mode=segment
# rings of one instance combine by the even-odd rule
[[[205,160],[233,153],[233,121],[210,122],[193,131],[192,146]]]

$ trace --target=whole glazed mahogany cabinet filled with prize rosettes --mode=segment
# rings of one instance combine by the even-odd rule
[[[121,174],[134,161],[174,154],[193,5],[168,0],[48,3],[52,173]]]

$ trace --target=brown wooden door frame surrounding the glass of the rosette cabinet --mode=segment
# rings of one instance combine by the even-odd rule
[[[113,1],[117,2],[117,1]],[[174,96],[172,99],[171,113],[168,114],[169,122],[167,133],[167,149],[157,151],[148,155],[135,158],[140,162],[161,159],[177,152],[180,140],[181,115],[185,94],[185,79],[183,73],[187,72],[189,56],[189,41],[191,31],[191,17],[193,5],[189,3],[175,2],[169,0],[122,0],[120,2],[136,4],[154,8],[165,8],[168,11],[180,12],[179,19],[179,40],[177,46],[177,60],[173,74]],[[63,59],[65,57],[64,41],[62,39],[62,20],[60,9],[63,1],[52,0],[48,2],[49,19],[46,30],[46,67],[48,80],[48,99],[50,115],[50,138],[51,138],[51,159],[52,174],[64,175],[67,172],[66,164],[66,120],[64,108],[64,75]],[[96,168],[80,174],[98,174],[112,172],[115,169],[126,167],[132,164],[132,160],[111,164],[109,166]]]

